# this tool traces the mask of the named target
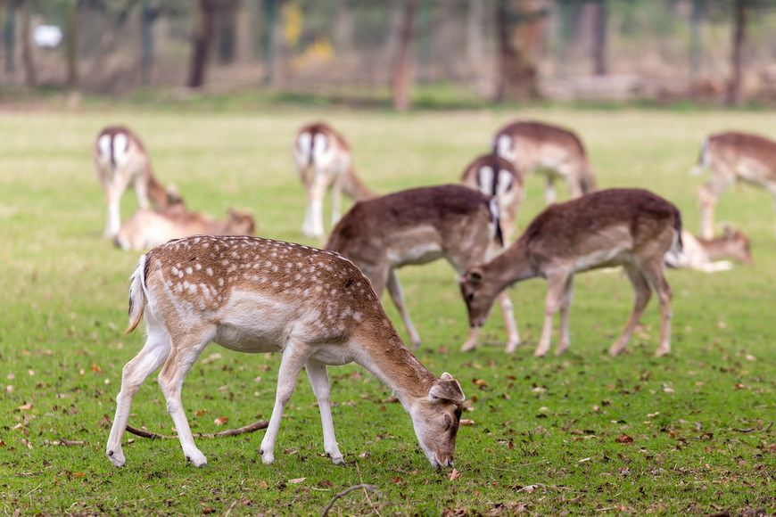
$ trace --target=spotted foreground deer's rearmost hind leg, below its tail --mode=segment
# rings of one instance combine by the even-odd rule
[[[117,467],[123,467],[125,464],[121,439],[127,429],[132,400],[145,379],[159,369],[169,356],[170,341],[167,331],[147,312],[145,321],[148,338],[143,349],[124,366],[121,372],[121,389],[116,398],[116,414],[113,417],[111,434],[105,447],[105,454]]]

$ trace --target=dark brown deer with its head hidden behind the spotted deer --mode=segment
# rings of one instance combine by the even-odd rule
[[[503,249],[495,200],[461,185],[422,187],[359,201],[344,215],[326,243],[351,259],[367,275],[377,299],[387,287],[417,349],[420,336],[409,319],[396,269],[447,259],[461,275]],[[507,325],[507,351],[520,344],[512,302],[500,298]],[[462,350],[474,349],[478,328],[472,328]]]

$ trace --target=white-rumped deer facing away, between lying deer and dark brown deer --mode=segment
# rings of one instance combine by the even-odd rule
[[[293,163],[307,190],[307,211],[302,234],[324,237],[323,199],[332,191],[332,225],[342,213],[342,193],[354,201],[374,197],[353,169],[351,147],[327,124],[317,122],[301,127],[293,141]]]

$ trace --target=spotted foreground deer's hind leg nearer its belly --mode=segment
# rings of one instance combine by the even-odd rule
[[[192,329],[183,336],[173,338],[169,357],[159,373],[159,387],[167,400],[167,411],[172,416],[172,422],[175,423],[183,454],[186,460],[196,467],[207,465],[208,460],[194,445],[194,436],[183,410],[180,391],[186,373],[191,370],[212,338],[213,332],[204,328]]]

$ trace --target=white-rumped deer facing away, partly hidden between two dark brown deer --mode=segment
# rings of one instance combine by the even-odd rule
[[[483,154],[464,169],[461,185],[487,196],[495,196],[499,204],[499,220],[504,242],[512,242],[517,210],[524,199],[523,176],[511,162],[495,154]]]

